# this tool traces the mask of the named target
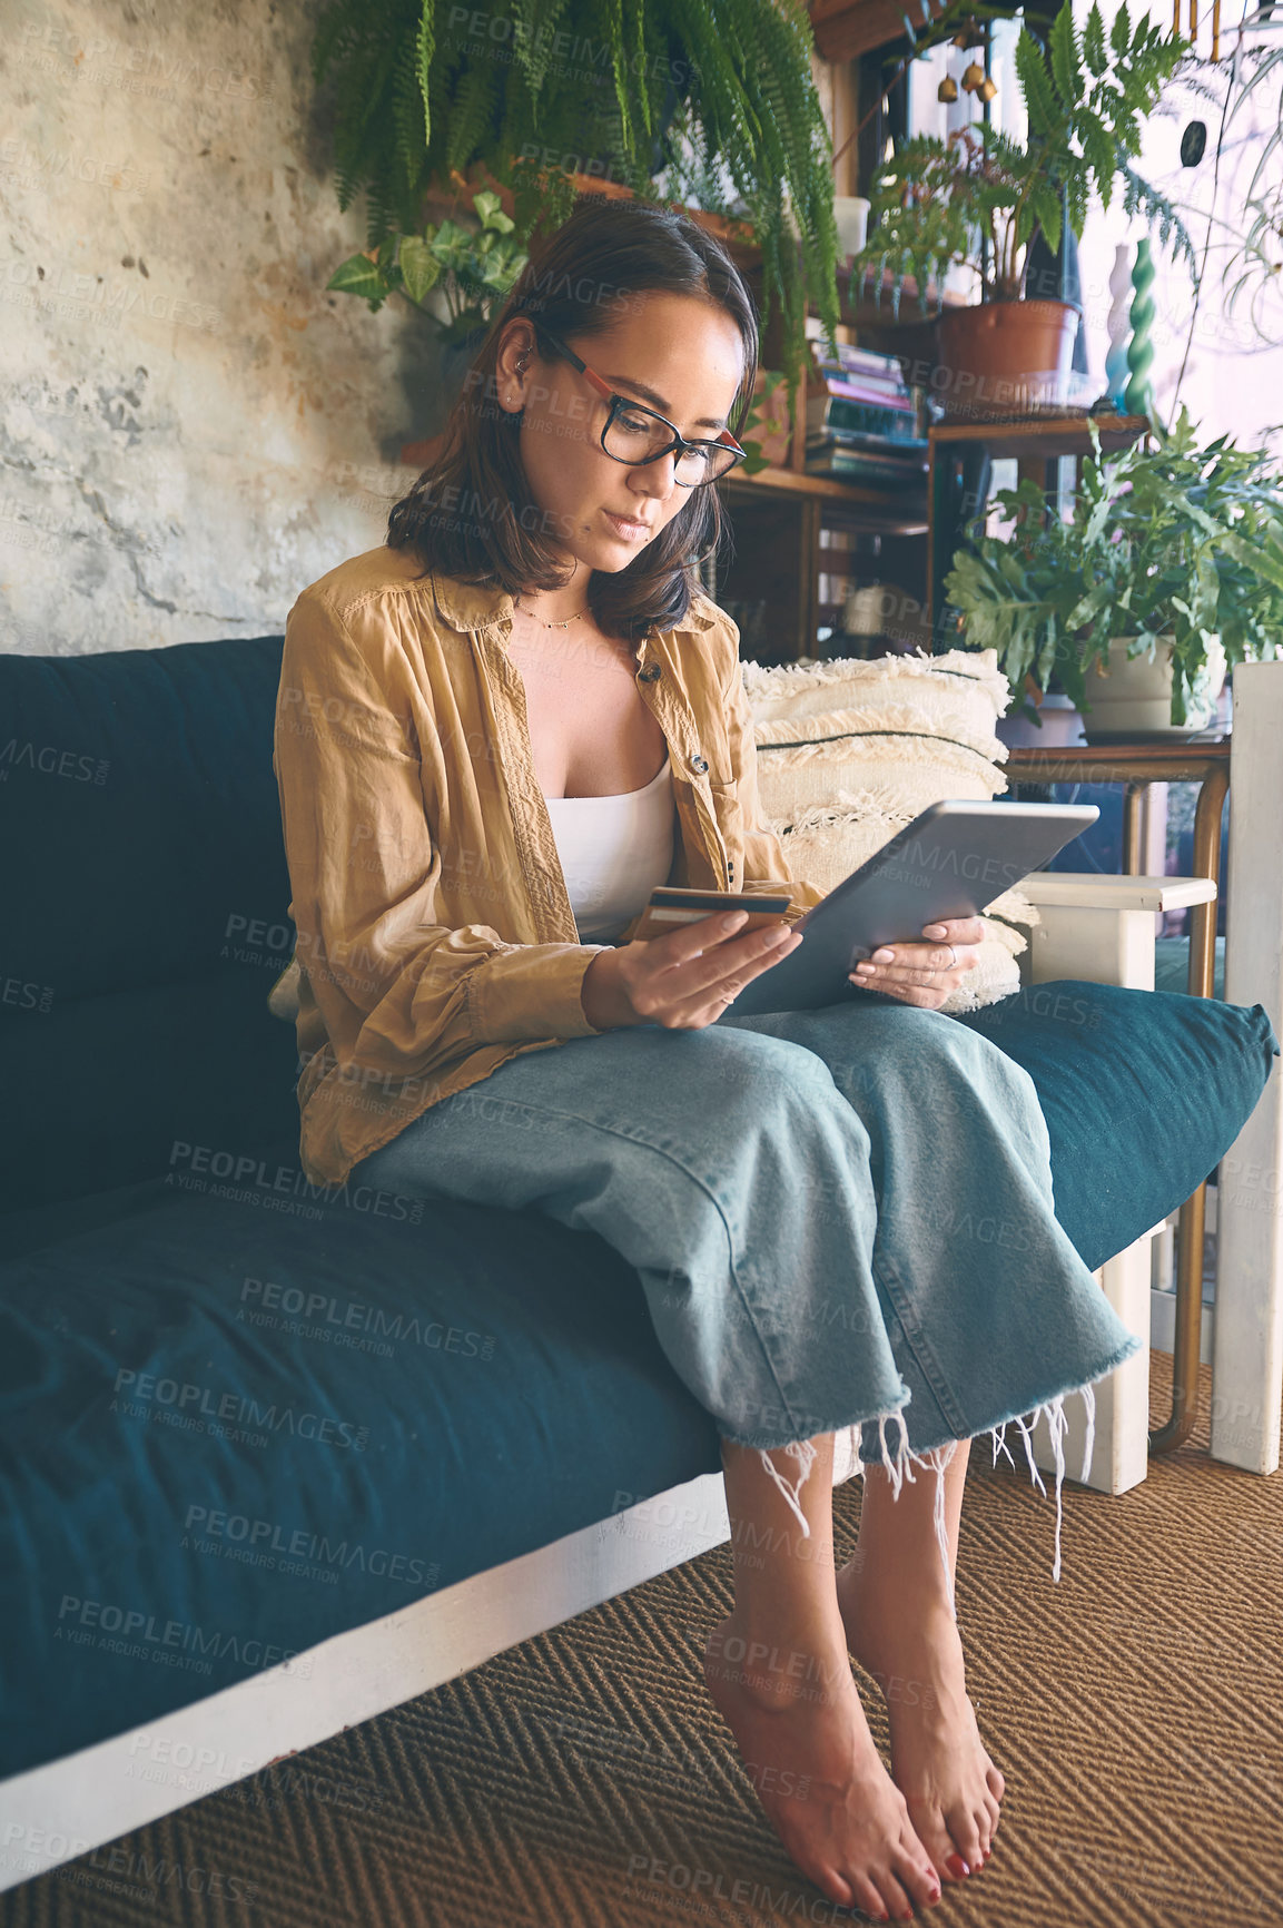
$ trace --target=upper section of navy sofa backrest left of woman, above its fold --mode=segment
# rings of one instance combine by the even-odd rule
[[[71,999],[247,970],[247,949],[289,962],[283,642],[0,656],[6,974],[48,993],[46,1028]]]

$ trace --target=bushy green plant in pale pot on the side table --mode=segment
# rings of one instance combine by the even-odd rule
[[[998,652],[1013,706],[1027,675],[1056,677],[1088,742],[1194,735],[1227,669],[1283,638],[1283,476],[1227,436],[1198,447],[1187,409],[1152,449],[1102,457],[1090,434],[1071,515],[1031,480],[1002,490],[1011,536],[977,528],[946,596],[963,646]]]

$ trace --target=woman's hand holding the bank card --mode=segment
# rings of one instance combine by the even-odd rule
[[[746,916],[719,912],[663,937],[634,937],[618,951],[599,951],[580,993],[588,1022],[599,1031],[624,1024],[699,1031],[717,1024],[751,977],[801,943],[782,918],[736,937]]]

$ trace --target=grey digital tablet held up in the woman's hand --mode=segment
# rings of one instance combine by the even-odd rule
[[[715,1022],[859,997],[850,981],[859,958],[878,945],[929,943],[925,924],[975,918],[1098,816],[1096,804],[930,804],[798,918],[803,943],[749,979]]]

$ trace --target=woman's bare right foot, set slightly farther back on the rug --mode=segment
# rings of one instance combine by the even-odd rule
[[[940,1880],[963,1880],[992,1853],[1006,1781],[981,1741],[948,1600],[878,1600],[855,1556],[838,1573],[838,1606],[851,1654],[882,1689],[913,1828]]]

